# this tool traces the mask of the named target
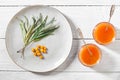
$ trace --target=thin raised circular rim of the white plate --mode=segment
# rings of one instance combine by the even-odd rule
[[[57,64],[55,67],[50,68],[49,70],[36,71],[36,70],[30,70],[30,69],[24,68],[24,67],[22,67],[21,65],[19,65],[18,63],[16,63],[16,61],[12,58],[12,56],[10,55],[10,52],[9,52],[9,50],[8,50],[8,43],[7,43],[7,35],[8,35],[8,34],[7,34],[7,31],[8,31],[8,27],[9,27],[12,19],[14,19],[14,18],[15,18],[20,12],[22,12],[23,10],[28,9],[28,8],[30,8],[30,7],[50,7],[50,8],[52,8],[52,9],[58,11],[58,12],[66,19],[66,21],[67,21],[67,23],[68,23],[68,25],[69,25],[69,27],[70,27],[70,32],[71,32],[71,45],[70,45],[69,52],[68,52],[68,54],[66,55],[66,58],[64,58],[64,60],[63,60],[61,63]],[[57,69],[58,67],[60,67],[60,66],[66,61],[66,59],[68,58],[68,56],[70,55],[70,52],[71,52],[71,49],[72,49],[72,45],[73,45],[73,33],[72,33],[72,29],[71,29],[71,26],[70,26],[70,23],[69,23],[68,19],[65,17],[65,15],[64,15],[61,11],[59,11],[58,9],[56,9],[56,8],[54,8],[54,7],[47,6],[47,5],[32,5],[32,6],[27,6],[27,7],[22,8],[22,9],[19,10],[17,13],[15,13],[15,15],[13,15],[13,17],[10,19],[10,21],[8,22],[6,31],[5,31],[5,45],[6,45],[6,49],[7,49],[7,53],[8,53],[8,55],[9,55],[9,57],[10,57],[11,60],[12,60],[18,67],[20,67],[21,69],[26,70],[26,71],[29,71],[29,72],[40,72],[40,73],[50,72],[50,71],[53,71],[53,70]]]

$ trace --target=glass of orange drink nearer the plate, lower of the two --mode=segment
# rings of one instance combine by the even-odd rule
[[[78,54],[78,58],[83,65],[88,67],[94,66],[101,60],[101,50],[95,44],[83,45]]]

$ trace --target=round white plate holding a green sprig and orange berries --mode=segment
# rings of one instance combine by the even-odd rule
[[[27,17],[48,15],[48,19],[56,18],[56,23],[60,28],[54,32],[54,35],[48,36],[39,42],[29,45],[25,50],[25,59],[17,50],[23,47],[22,35],[19,27],[19,21],[16,17],[22,19]],[[37,44],[45,45],[48,48],[48,54],[44,54],[45,59],[33,56],[31,48]],[[21,68],[32,72],[47,72],[60,66],[68,57],[72,46],[72,32],[66,18],[56,9],[48,6],[30,6],[18,12],[9,22],[6,31],[6,47],[12,60]]]

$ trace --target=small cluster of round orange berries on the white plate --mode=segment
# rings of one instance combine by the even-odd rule
[[[40,59],[44,59],[43,54],[47,53],[47,48],[45,46],[42,45],[38,45],[36,48],[32,48],[32,52],[34,54],[34,56],[39,56]]]

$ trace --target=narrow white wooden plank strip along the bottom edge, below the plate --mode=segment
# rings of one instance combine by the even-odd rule
[[[0,72],[0,80],[119,80],[120,73]]]

